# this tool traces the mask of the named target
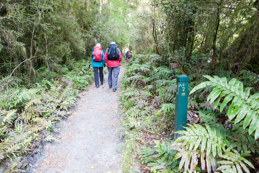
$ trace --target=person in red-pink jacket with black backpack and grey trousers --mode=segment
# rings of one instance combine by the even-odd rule
[[[108,75],[108,84],[109,88],[113,88],[113,92],[117,91],[117,82],[118,75],[120,73],[120,61],[121,61],[121,52],[117,48],[115,42],[111,42],[109,48],[106,49],[104,54],[104,60],[107,63],[107,68],[109,71]],[[112,75],[113,72],[113,75]],[[113,80],[112,80],[113,76]]]

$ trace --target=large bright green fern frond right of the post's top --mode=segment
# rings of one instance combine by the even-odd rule
[[[194,87],[190,94],[197,91],[198,89],[204,87],[214,87],[212,92],[208,95],[207,101],[211,103],[215,101],[215,107],[218,106],[222,97],[225,97],[221,106],[220,112],[227,105],[229,101],[231,104],[228,108],[227,115],[230,120],[235,118],[235,124],[240,122],[244,118],[243,128],[249,126],[249,134],[253,133],[255,130],[255,139],[259,138],[259,93],[250,95],[249,87],[243,90],[243,83],[232,79],[227,83],[226,78],[219,78],[214,76],[214,78],[205,75],[210,81],[202,82],[201,84]],[[249,125],[250,123],[250,125]]]

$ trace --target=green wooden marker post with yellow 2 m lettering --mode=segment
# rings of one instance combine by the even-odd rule
[[[176,98],[175,98],[175,127],[174,132],[185,130],[187,121],[189,77],[181,74],[176,77]],[[174,139],[180,137],[175,133]]]

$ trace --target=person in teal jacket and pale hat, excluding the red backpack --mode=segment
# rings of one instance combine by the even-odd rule
[[[99,43],[97,43],[96,46],[102,47],[101,44],[99,44]],[[94,48],[95,47],[93,47],[93,49]],[[103,53],[102,54],[103,60],[101,62],[97,62],[97,61],[93,60],[93,51],[92,51],[91,61],[92,61],[93,71],[95,73],[95,85],[96,85],[96,88],[99,88],[98,68],[99,68],[99,76],[100,76],[101,85],[103,85],[103,78],[104,78],[103,67],[105,67],[106,64],[105,64],[105,61],[104,61],[104,52],[103,52],[103,50],[102,50],[102,53]]]

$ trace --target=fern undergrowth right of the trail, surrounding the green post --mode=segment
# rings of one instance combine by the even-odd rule
[[[258,75],[219,68],[208,76],[206,64],[195,58],[184,71],[177,63],[180,56],[181,52],[168,57],[134,54],[126,65],[120,95],[125,115],[121,131],[126,138],[123,172],[256,172]],[[200,73],[192,70],[194,64]],[[190,77],[188,124],[175,141],[180,74]],[[128,146],[135,148],[129,152]]]

